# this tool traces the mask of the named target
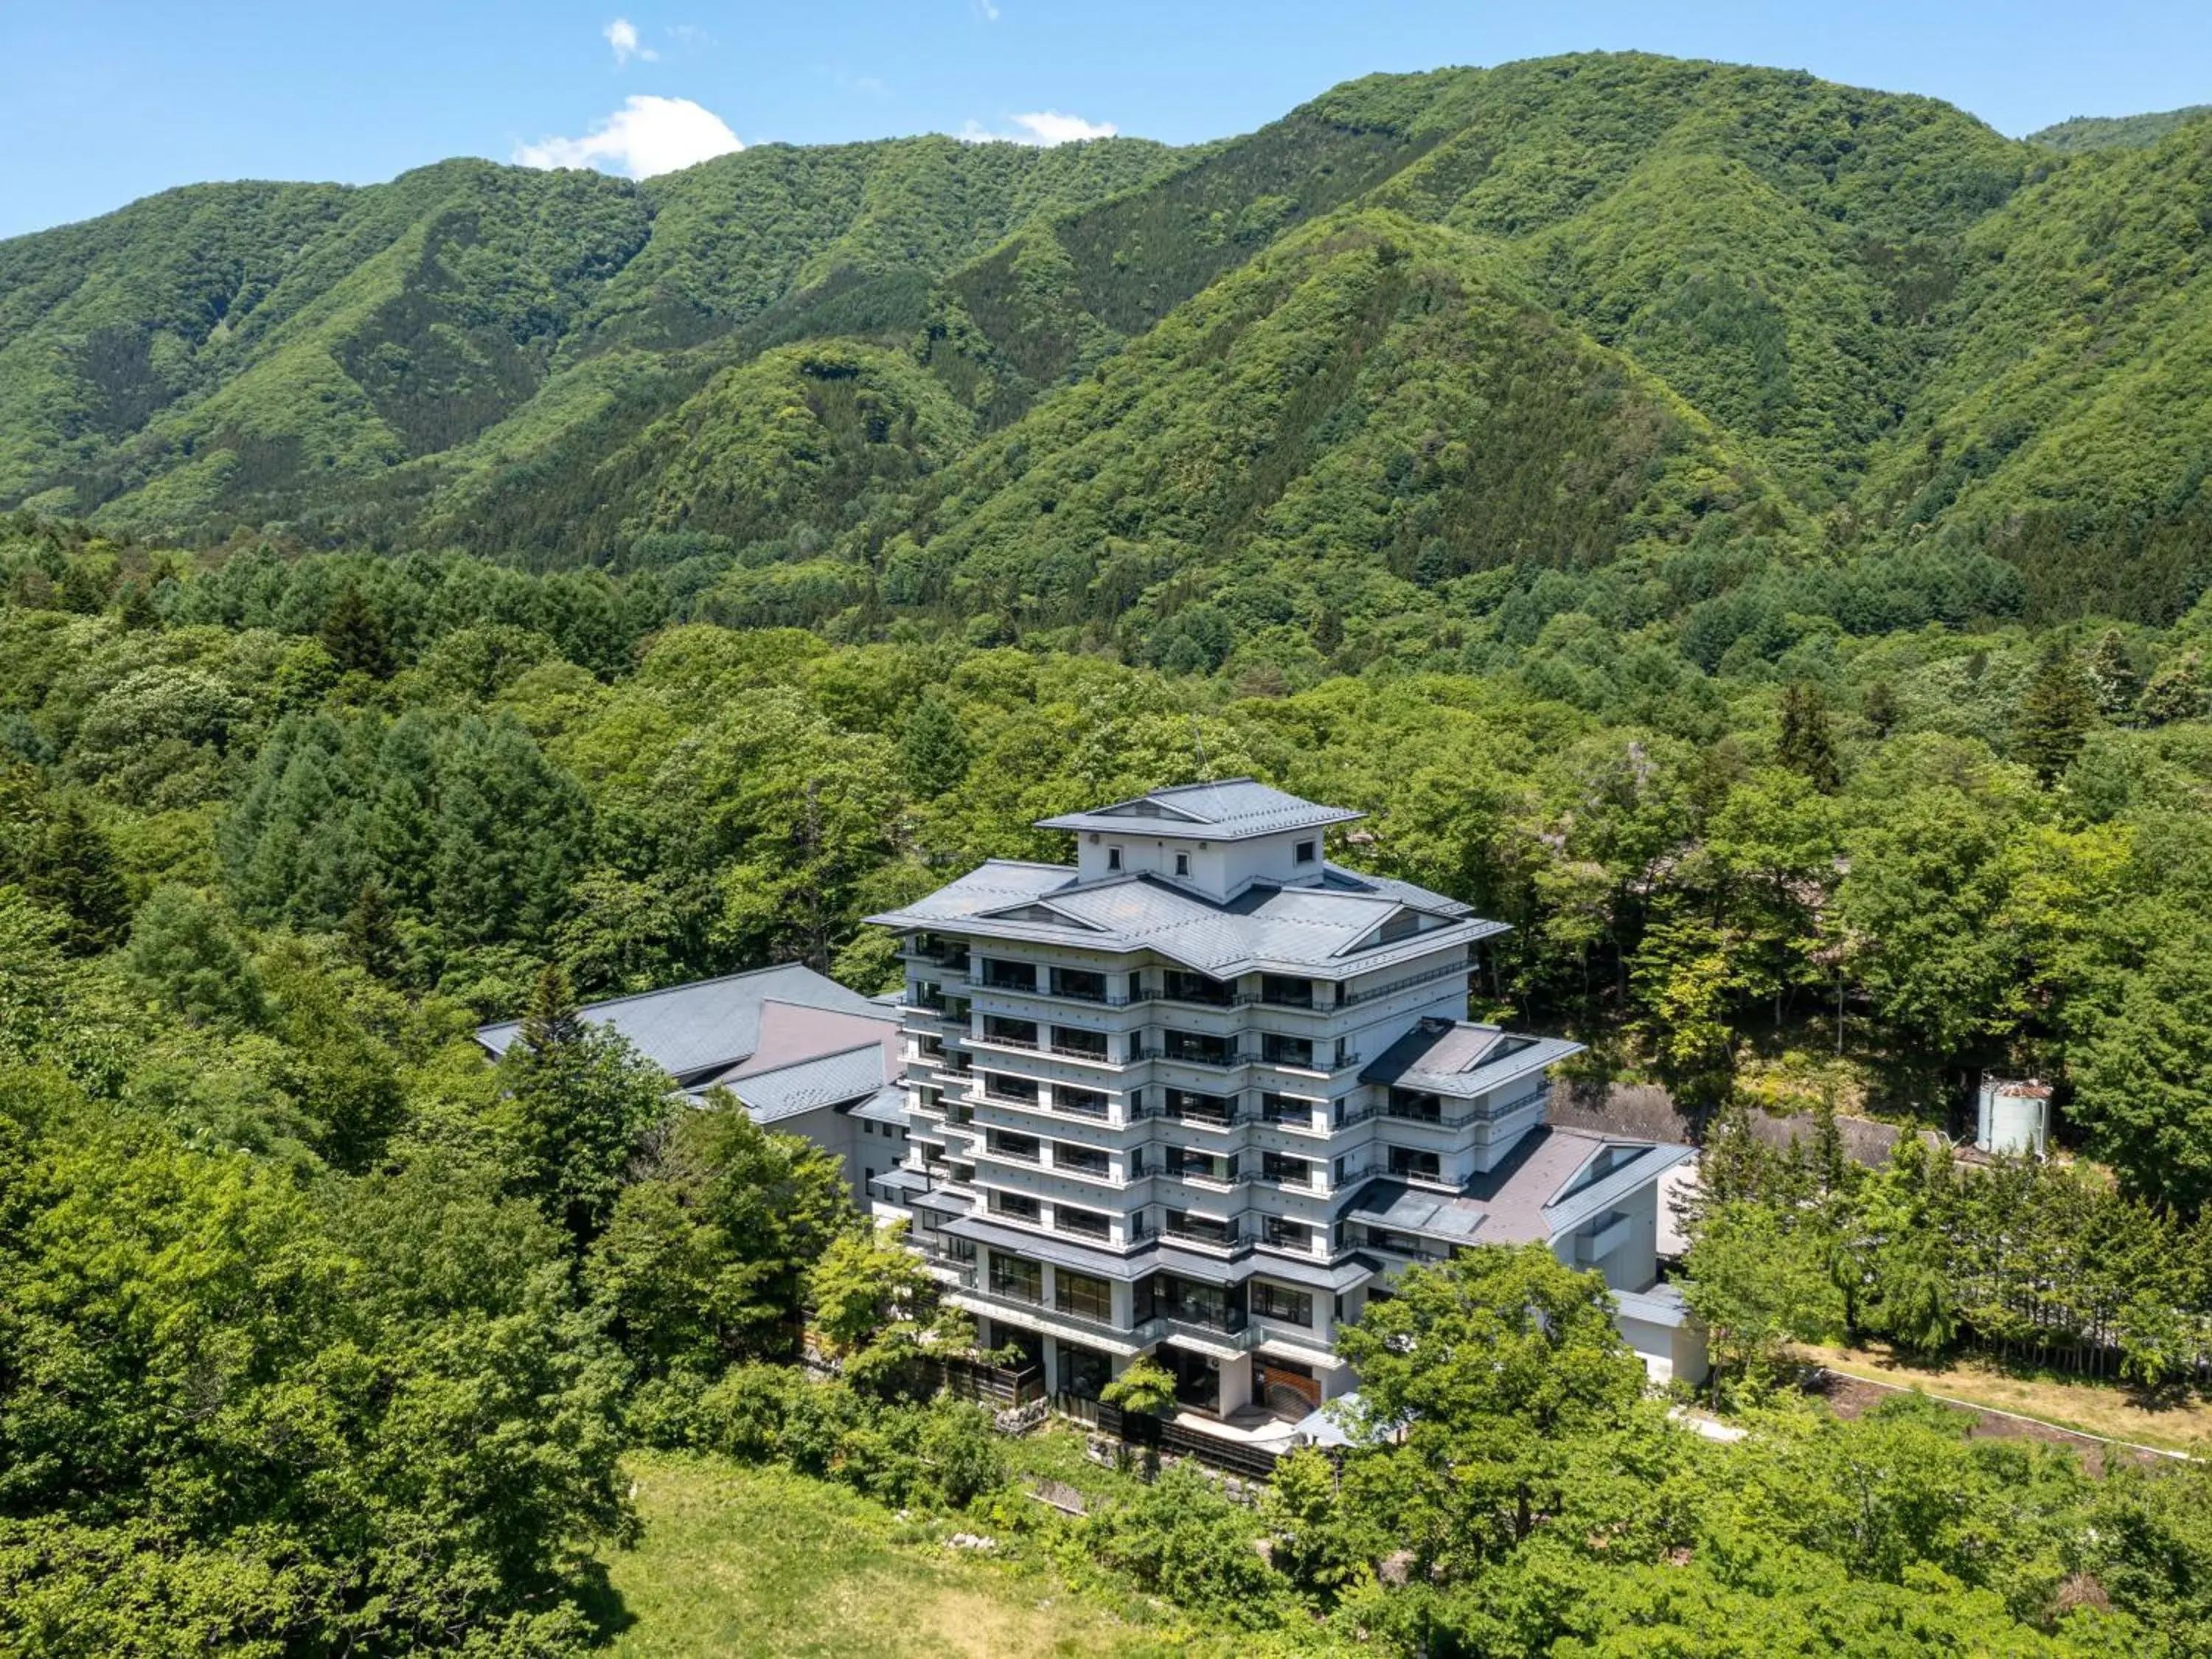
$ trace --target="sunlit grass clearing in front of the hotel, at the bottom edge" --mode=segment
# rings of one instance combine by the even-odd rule
[[[617,1659],[1159,1652],[1042,1573],[949,1551],[858,1493],[719,1458],[628,1460],[646,1537],[608,1555]]]

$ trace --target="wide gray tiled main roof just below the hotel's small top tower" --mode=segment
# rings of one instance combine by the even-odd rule
[[[1356,949],[1402,907],[1433,916],[1436,927]],[[991,860],[869,920],[1117,953],[1150,949],[1212,975],[1281,969],[1338,978],[1504,931],[1502,922],[1473,916],[1455,898],[1336,865],[1310,887],[1252,885],[1219,902],[1161,876],[1077,880],[1066,865]]]

